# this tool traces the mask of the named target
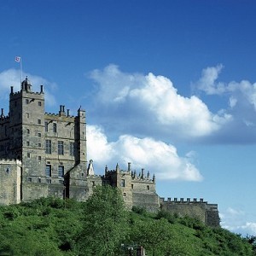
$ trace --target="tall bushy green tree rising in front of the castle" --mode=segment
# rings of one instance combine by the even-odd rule
[[[128,234],[127,212],[117,188],[97,186],[84,207],[79,255],[118,255]]]

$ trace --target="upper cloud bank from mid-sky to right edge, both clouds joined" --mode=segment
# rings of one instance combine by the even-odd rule
[[[90,73],[96,88],[93,122],[109,134],[166,142],[255,143],[256,84],[218,82],[223,67],[207,67],[194,83],[197,91],[225,102],[214,111],[204,97],[180,95],[164,76],[123,73],[115,65],[96,69]]]

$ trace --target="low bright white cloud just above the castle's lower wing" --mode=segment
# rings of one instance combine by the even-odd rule
[[[98,170],[102,170],[107,163],[113,169],[117,162],[125,169],[127,163],[131,162],[133,170],[139,172],[145,168],[159,179],[202,180],[201,173],[193,164],[193,154],[181,157],[171,144],[150,137],[122,135],[115,142],[108,143],[102,128],[88,125],[87,143],[89,159],[94,160]]]

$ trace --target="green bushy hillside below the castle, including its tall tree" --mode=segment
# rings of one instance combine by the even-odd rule
[[[256,255],[254,237],[212,229],[170,212],[125,210],[118,189],[96,187],[84,203],[42,198],[0,207],[0,255]]]

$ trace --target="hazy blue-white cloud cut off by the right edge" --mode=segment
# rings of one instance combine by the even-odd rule
[[[195,87],[207,95],[227,99],[227,108],[221,111],[229,117],[230,122],[222,125],[214,140],[222,143],[255,143],[256,83],[247,80],[218,82],[222,70],[223,65],[207,67],[201,79],[195,83]]]

